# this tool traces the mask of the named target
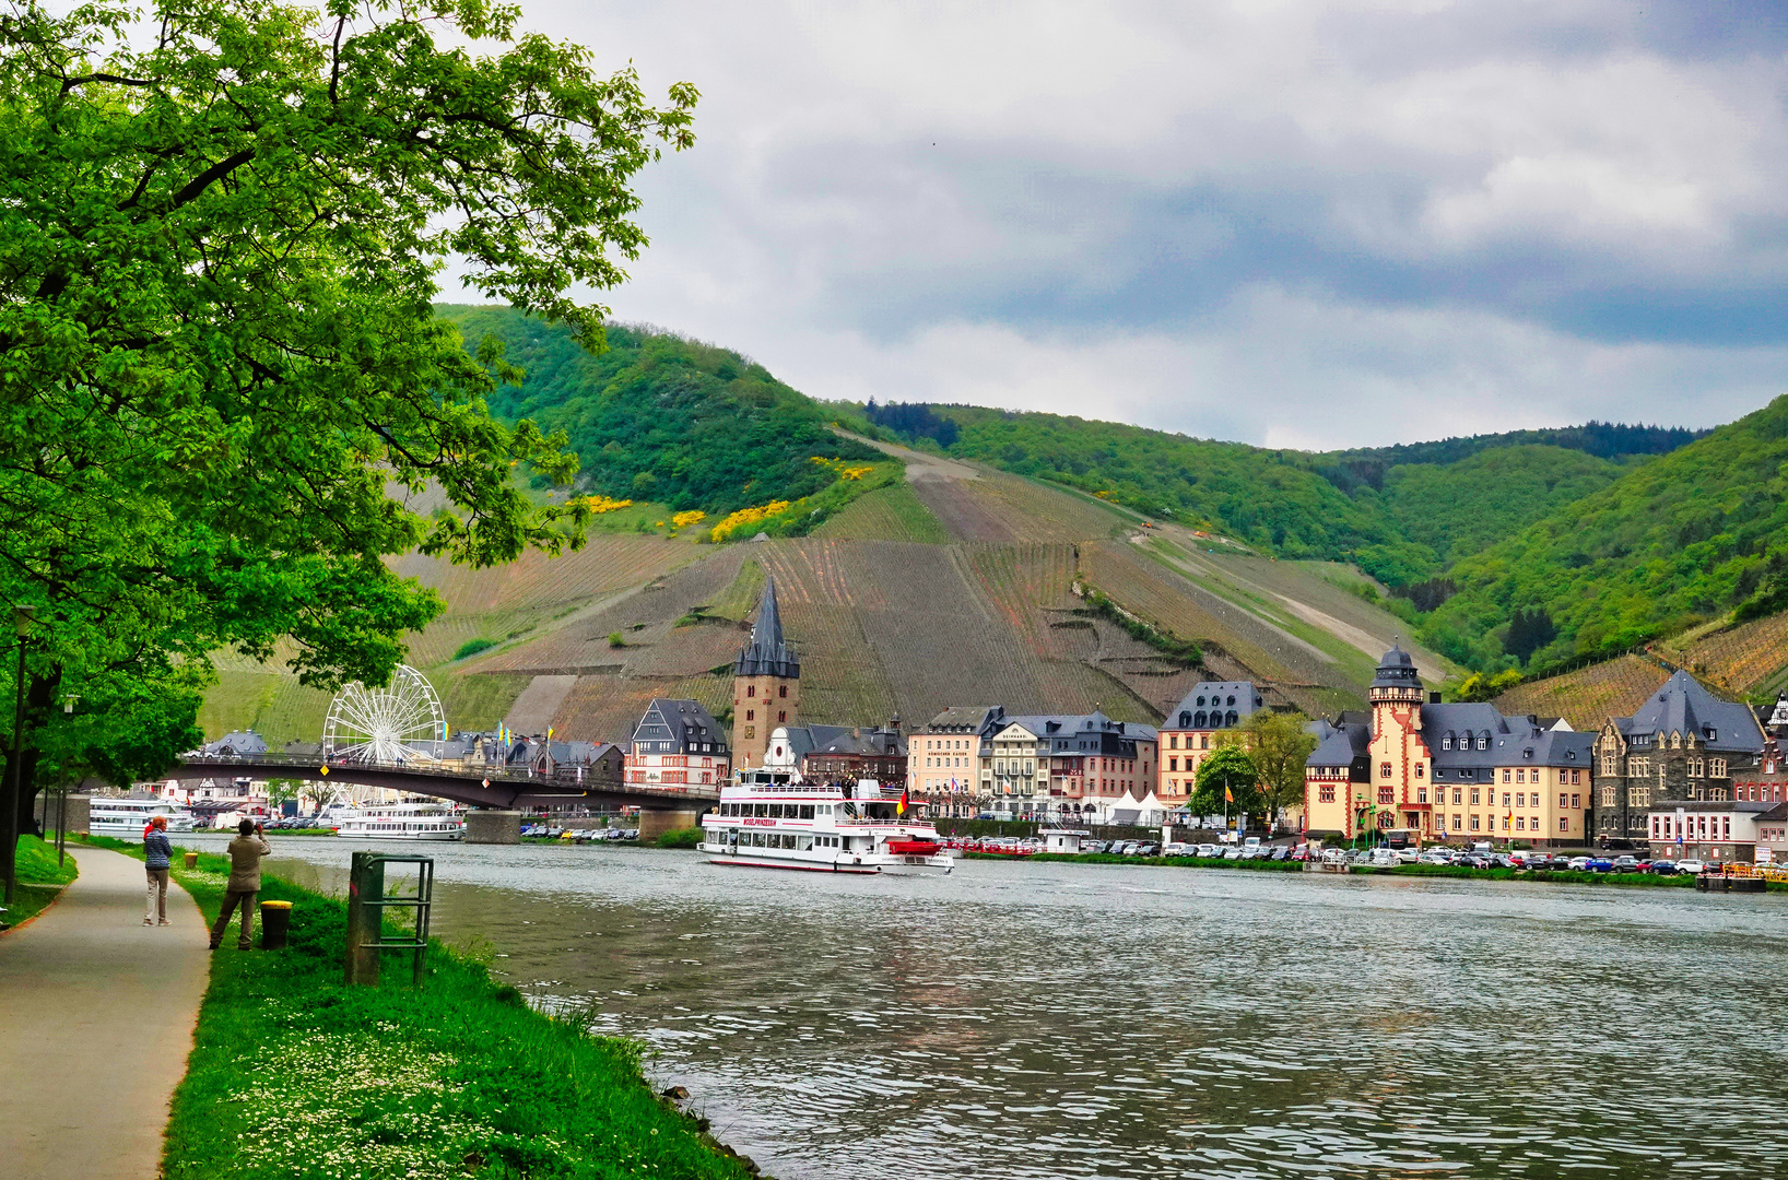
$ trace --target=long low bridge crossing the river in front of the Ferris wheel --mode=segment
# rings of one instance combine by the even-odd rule
[[[320,760],[302,754],[188,754],[161,780],[297,778],[352,787],[388,787],[467,806],[529,810],[536,806],[637,806],[645,812],[703,812],[717,803],[717,787],[628,787],[613,778],[578,778],[572,767],[529,774],[524,767],[452,769],[440,763]]]

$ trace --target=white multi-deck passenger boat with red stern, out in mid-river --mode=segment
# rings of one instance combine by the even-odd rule
[[[701,817],[697,846],[717,865],[933,876],[955,864],[937,828],[901,815],[874,780],[806,783],[799,771],[740,771]]]

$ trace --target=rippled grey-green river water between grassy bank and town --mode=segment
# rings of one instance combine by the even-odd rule
[[[785,1180],[1788,1175],[1781,894],[426,851],[436,933]]]

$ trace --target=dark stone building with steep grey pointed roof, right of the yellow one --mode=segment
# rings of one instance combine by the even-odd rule
[[[1595,742],[1595,840],[1650,842],[1652,808],[1724,803],[1734,778],[1763,772],[1763,726],[1750,706],[1720,701],[1674,672],[1631,717],[1609,717]]]

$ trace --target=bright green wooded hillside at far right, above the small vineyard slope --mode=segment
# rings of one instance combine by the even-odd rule
[[[1452,658],[1486,667],[1507,628],[1543,611],[1532,656],[1613,654],[1731,611],[1788,608],[1788,397],[1548,513],[1450,577],[1423,624]]]

